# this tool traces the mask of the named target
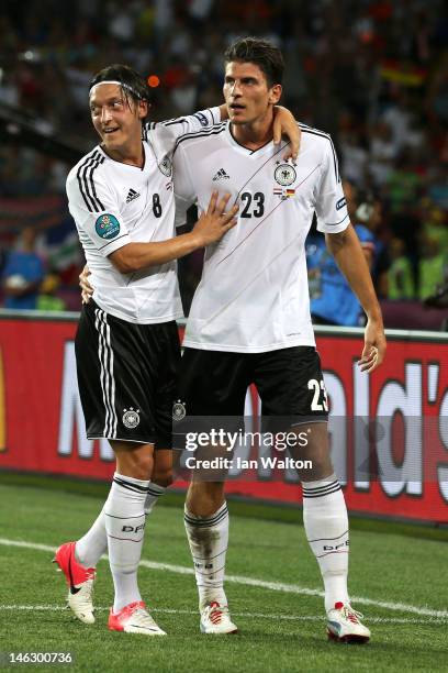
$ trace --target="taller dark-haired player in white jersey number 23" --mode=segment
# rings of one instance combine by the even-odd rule
[[[310,318],[304,242],[314,211],[329,252],[367,315],[362,371],[380,365],[385,338],[331,136],[300,124],[296,162],[285,162],[281,146],[272,143],[282,71],[277,47],[250,37],[236,42],[225,55],[229,121],[177,141],[176,194],[186,205],[195,201],[203,211],[216,185],[239,205],[237,225],[205,251],[183,342],[179,402],[187,419],[213,417],[220,426],[220,417],[232,417],[236,430],[254,383],[267,428],[307,429],[307,445],[298,452],[313,464],[300,473],[304,527],[325,585],[328,637],[366,642],[369,629],[350,606],[347,591],[347,509],[329,456],[327,399]],[[193,474],[186,530],[201,630],[231,633],[237,628],[223,588],[228,540],[224,481],[213,473],[209,479]]]

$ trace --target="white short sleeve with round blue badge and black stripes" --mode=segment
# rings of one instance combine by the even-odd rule
[[[78,172],[79,173],[79,172]],[[74,169],[67,178],[68,209],[79,238],[86,236],[104,257],[131,242],[119,205],[98,172],[85,179]]]

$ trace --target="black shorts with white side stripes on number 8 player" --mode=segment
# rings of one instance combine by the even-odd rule
[[[171,446],[180,362],[175,321],[133,324],[90,300],[75,340],[88,439]]]

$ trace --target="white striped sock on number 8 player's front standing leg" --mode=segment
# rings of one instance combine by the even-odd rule
[[[149,481],[134,479],[115,472],[104,505],[111,566],[117,613],[130,603],[142,600],[137,585],[137,569],[145,534],[145,500]]]

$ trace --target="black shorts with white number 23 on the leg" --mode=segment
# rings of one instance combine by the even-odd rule
[[[188,417],[240,418],[247,388],[255,384],[261,416],[281,417],[283,429],[328,418],[321,358],[313,346],[265,353],[187,347],[179,374],[179,397]]]

